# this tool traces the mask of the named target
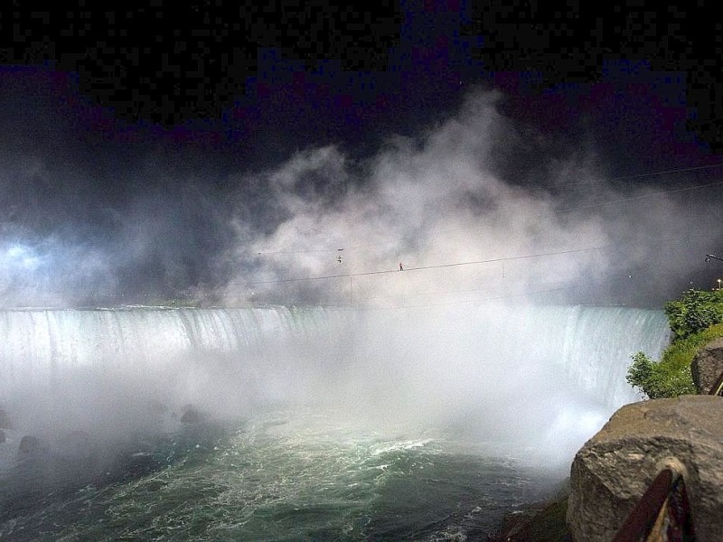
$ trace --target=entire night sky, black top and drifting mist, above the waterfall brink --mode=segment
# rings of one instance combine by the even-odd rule
[[[702,262],[723,241],[712,8],[17,5],[0,12],[5,304],[237,303],[259,289],[249,283],[401,258],[411,268],[547,254],[518,289],[483,294],[512,295],[551,284],[541,268],[552,253],[600,243],[618,252],[553,273],[582,302],[655,305],[715,284]],[[505,224],[511,212],[529,223]],[[429,238],[449,228],[459,235],[438,250]],[[480,229],[490,237],[478,242]],[[368,244],[376,252],[350,250]],[[341,286],[323,282],[262,289],[338,300]],[[402,296],[395,288],[357,294]]]

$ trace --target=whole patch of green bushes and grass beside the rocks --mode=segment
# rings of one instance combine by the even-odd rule
[[[637,352],[625,379],[651,399],[695,394],[690,363],[701,347],[723,337],[723,293],[688,290],[665,304],[673,332],[660,361]]]

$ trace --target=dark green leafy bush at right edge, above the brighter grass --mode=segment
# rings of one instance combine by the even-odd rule
[[[673,340],[685,339],[723,322],[723,290],[688,290],[680,299],[664,305]]]

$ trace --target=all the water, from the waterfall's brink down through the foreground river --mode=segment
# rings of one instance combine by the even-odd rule
[[[615,307],[0,312],[0,537],[481,536],[668,333]]]

